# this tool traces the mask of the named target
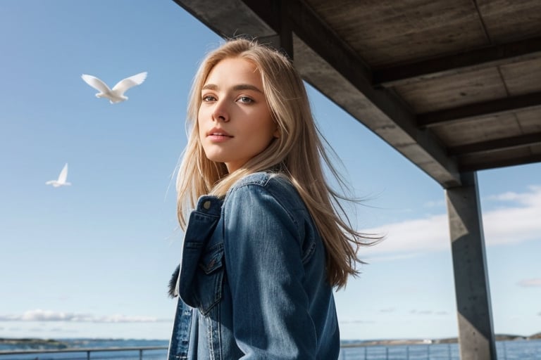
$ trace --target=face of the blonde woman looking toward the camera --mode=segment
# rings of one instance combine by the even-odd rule
[[[225,58],[211,70],[201,91],[197,122],[206,157],[225,163],[228,172],[278,137],[259,70],[243,58]]]

